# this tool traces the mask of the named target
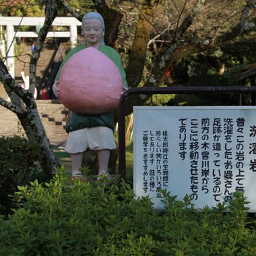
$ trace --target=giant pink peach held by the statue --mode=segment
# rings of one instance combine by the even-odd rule
[[[100,115],[118,106],[122,87],[115,63],[88,47],[74,54],[63,66],[59,79],[60,101],[76,113]]]

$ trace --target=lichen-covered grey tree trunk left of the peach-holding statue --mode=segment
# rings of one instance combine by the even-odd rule
[[[51,144],[45,134],[44,125],[38,114],[33,95],[36,87],[36,64],[52,20],[56,17],[57,10],[58,0],[46,1],[44,26],[40,29],[38,38],[36,38],[35,51],[31,56],[29,65],[29,90],[22,89],[15,82],[3,61],[0,60],[0,81],[3,83],[4,89],[11,99],[11,102],[7,102],[0,98],[0,104],[17,115],[28,140],[35,140],[38,143],[38,147],[42,150],[40,164],[47,177],[51,177],[52,172],[54,172],[57,159],[51,150]]]

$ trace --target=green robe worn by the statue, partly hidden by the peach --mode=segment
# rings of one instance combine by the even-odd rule
[[[61,73],[61,69],[63,68],[63,65],[69,60],[69,58],[72,55],[76,54],[77,52],[85,48],[86,48],[86,45],[79,45],[68,52],[66,58],[61,63],[60,69],[58,70],[58,73],[55,78],[56,81],[60,77],[60,73]],[[118,67],[118,70],[120,71],[120,75],[122,77],[124,86],[128,87],[127,81],[125,78],[124,67],[122,65],[122,60],[118,52],[116,52],[115,49],[106,45],[100,45],[98,50],[103,54],[105,54],[106,56],[108,56],[109,59],[111,59],[116,64],[116,67]],[[90,127],[99,127],[99,126],[109,127],[110,129],[114,130],[115,122],[113,120],[113,116],[111,112],[104,113],[102,115],[80,115],[74,111],[69,111],[68,120],[66,124],[67,132],[72,132],[79,129],[90,128]]]

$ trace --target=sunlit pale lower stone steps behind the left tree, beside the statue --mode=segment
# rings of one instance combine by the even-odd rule
[[[51,145],[63,147],[68,136],[65,131],[68,110],[60,100],[36,100],[36,105]],[[24,129],[19,124],[17,116],[2,106],[0,106],[0,120],[0,136],[24,134]]]

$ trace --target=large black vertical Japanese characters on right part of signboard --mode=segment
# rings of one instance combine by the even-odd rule
[[[215,202],[227,202],[235,190],[244,191],[246,164],[256,172],[256,126],[247,125],[247,131],[245,127],[244,117],[179,119],[177,154],[180,161],[189,161],[191,198],[197,200],[203,193]],[[245,143],[246,134],[250,143]]]

